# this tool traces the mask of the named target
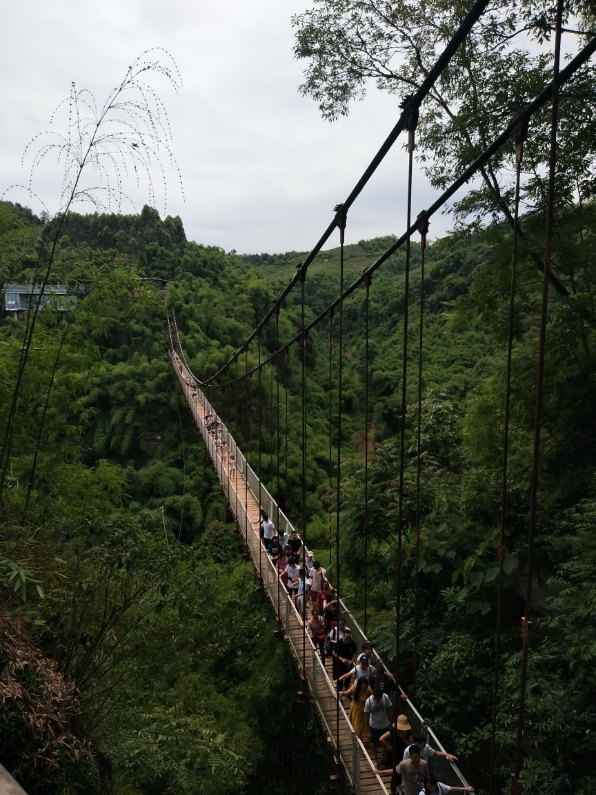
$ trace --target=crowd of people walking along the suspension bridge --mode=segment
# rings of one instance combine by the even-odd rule
[[[174,356],[184,378],[180,359]],[[188,386],[196,395],[195,386],[190,382]],[[227,463],[230,479],[235,481],[236,462],[234,456],[228,454],[223,425],[212,413],[207,413],[203,421],[223,465]],[[269,514],[261,510],[259,534],[277,570],[281,587],[288,591],[306,622],[306,631],[319,651],[321,662],[325,665],[325,661],[331,659],[331,683],[339,689],[339,697],[349,702],[348,719],[355,734],[363,743],[370,742],[375,772],[392,771],[391,792],[394,795],[447,795],[472,791],[470,786],[444,784],[430,772],[428,761],[432,756],[450,760],[457,757],[435,750],[427,743],[425,735],[412,733],[406,715],[393,717],[393,701],[397,694],[393,675],[380,660],[373,662],[373,648],[369,642],[364,642],[358,653],[350,627],[342,618],[337,591],[327,580],[325,568],[304,548],[296,531],[278,533]],[[400,697],[408,698],[404,694]]]

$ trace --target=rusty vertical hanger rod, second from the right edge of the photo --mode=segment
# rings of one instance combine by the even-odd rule
[[[509,410],[511,407],[511,373],[513,363],[513,335],[515,322],[515,301],[517,290],[517,248],[518,235],[517,227],[520,215],[520,192],[521,192],[521,162],[524,154],[524,141],[528,134],[528,126],[522,124],[513,133],[515,143],[516,159],[516,184],[515,201],[513,210],[513,240],[511,251],[511,277],[509,282],[509,317],[507,321],[507,366],[505,374],[505,405],[503,416],[503,464],[501,469],[501,514],[499,522],[499,548],[497,551],[498,559],[498,584],[497,584],[497,618],[494,633],[493,646],[493,717],[490,730],[490,762],[489,762],[489,795],[495,791],[494,772],[497,759],[497,716],[498,716],[498,697],[501,667],[501,628],[503,615],[503,589],[505,585],[505,547],[506,521],[507,521],[507,494],[508,494],[508,467],[509,467]]]

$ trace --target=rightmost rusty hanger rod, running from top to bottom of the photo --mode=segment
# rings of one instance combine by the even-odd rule
[[[511,777],[512,795],[521,793],[522,745],[524,740],[525,699],[528,683],[528,658],[530,630],[532,626],[532,578],[534,564],[534,543],[536,538],[538,479],[540,463],[540,426],[542,424],[542,400],[544,393],[544,358],[546,351],[546,332],[548,320],[548,285],[551,270],[552,227],[555,205],[555,170],[557,163],[557,125],[559,120],[559,63],[561,55],[561,28],[563,25],[563,0],[557,0],[555,25],[555,53],[552,78],[551,142],[548,164],[548,198],[546,230],[544,234],[544,271],[542,297],[540,303],[540,335],[538,343],[538,362],[536,366],[536,401],[534,405],[534,438],[532,443],[532,477],[530,482],[530,511],[528,517],[528,559],[526,563],[525,615],[521,617],[521,677],[520,702],[517,715],[517,739],[515,766]]]

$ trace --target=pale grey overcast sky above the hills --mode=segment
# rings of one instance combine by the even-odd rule
[[[162,47],[176,61],[183,85],[176,95],[158,76],[151,82],[168,111],[185,200],[176,173],[166,169],[165,212],[161,192],[155,203],[161,216],[180,215],[189,239],[238,253],[312,249],[400,109],[397,97],[371,87],[347,118],[330,123],[298,93],[304,64],[292,55],[291,17],[308,6],[306,0],[6,2],[0,194],[28,181],[23,149],[48,130],[72,80],[102,105],[136,56]],[[406,157],[398,145],[385,158],[350,211],[347,242],[404,231]],[[54,160],[33,177],[50,211],[60,207],[61,173]],[[126,179],[124,189],[135,207],[124,204],[122,211],[140,211],[146,194]],[[424,176],[417,176],[414,215],[432,196]],[[23,191],[5,198],[41,211]],[[432,236],[448,228],[449,219],[437,216]],[[337,244],[335,236],[330,245]]]

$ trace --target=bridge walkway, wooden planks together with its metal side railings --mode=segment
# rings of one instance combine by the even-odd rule
[[[292,533],[292,524],[277,505],[272,495],[269,494],[269,491],[260,482],[257,473],[249,466],[234,437],[226,429],[226,425],[223,424],[215,409],[207,401],[207,397],[195,382],[184,361],[180,359],[172,348],[169,351],[169,355],[197,429],[203,437],[207,452],[211,456],[211,462],[215,467],[219,483],[226,494],[230,511],[234,515],[234,519],[242,533],[246,549],[250,553],[277,619],[283,627],[284,637],[288,642],[292,658],[304,680],[305,687],[308,688],[308,697],[315,708],[323,731],[327,735],[327,743],[333,750],[335,760],[343,773],[343,778],[354,793],[362,793],[362,795],[369,795],[369,793],[370,795],[372,793],[381,795],[382,793],[382,795],[389,795],[392,771],[381,770],[380,773],[375,772],[376,768],[366,749],[366,745],[356,736],[343,704],[338,700],[335,686],[331,684],[331,665],[328,665],[327,668],[323,665],[311,638],[304,631],[300,612],[296,610],[292,597],[286,589],[279,587],[277,568],[269,559],[261,544],[259,535],[261,508],[275,520],[278,532],[284,530],[287,533]],[[222,428],[223,436],[226,438],[227,449],[224,456],[219,455],[219,451],[215,446],[215,439],[207,430],[205,418],[209,415],[215,417]],[[234,470],[229,468],[230,456],[234,456],[236,462]],[[340,605],[343,613],[349,616],[352,637],[358,650],[361,650],[362,643],[366,641],[366,636],[360,626],[358,626],[358,622],[346,608],[346,605],[341,601]],[[373,657],[374,661],[380,659],[377,654],[374,654]],[[389,671],[389,669],[387,670]],[[399,695],[402,698],[397,698],[396,714],[403,713],[407,715],[414,732],[421,731],[426,733],[428,743],[435,750],[444,751],[432,729],[424,722],[420,713],[398,686],[396,697]],[[459,769],[444,757],[433,757],[432,770],[437,778],[445,783],[456,786],[467,785]]]

